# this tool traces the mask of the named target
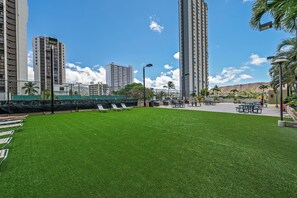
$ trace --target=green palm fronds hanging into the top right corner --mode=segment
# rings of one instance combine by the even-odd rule
[[[250,25],[259,29],[261,19],[269,14],[276,29],[295,32],[297,29],[297,1],[295,0],[256,0]]]

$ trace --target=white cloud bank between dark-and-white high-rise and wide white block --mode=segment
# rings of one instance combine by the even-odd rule
[[[94,66],[95,68],[97,66]],[[106,70],[102,66],[98,70],[92,67],[81,67],[73,63],[66,63],[66,82],[89,84],[90,82],[106,82]]]

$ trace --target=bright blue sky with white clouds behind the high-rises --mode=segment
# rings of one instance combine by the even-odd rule
[[[245,1],[245,2],[244,2]],[[249,26],[253,1],[206,0],[209,7],[210,87],[269,81],[265,57],[290,35]],[[53,36],[66,44],[67,82],[105,81],[104,67],[132,65],[136,81],[179,82],[177,0],[28,0],[28,56],[32,37]],[[267,20],[269,20],[267,18]],[[267,21],[263,21],[267,22]],[[32,79],[32,68],[29,76]]]

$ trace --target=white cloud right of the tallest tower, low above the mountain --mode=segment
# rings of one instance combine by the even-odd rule
[[[209,76],[209,84],[210,87],[213,87],[217,84],[225,84],[225,83],[239,83],[242,80],[252,79],[253,77],[244,74],[249,69],[249,67],[241,67],[241,68],[234,68],[234,67],[226,67],[223,68],[221,73],[217,74],[216,76]]]

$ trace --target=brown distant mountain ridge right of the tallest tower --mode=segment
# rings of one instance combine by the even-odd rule
[[[233,89],[237,89],[239,92],[241,91],[257,91],[261,92],[259,87],[261,85],[268,85],[268,89],[272,89],[270,87],[269,82],[257,82],[257,83],[248,83],[248,84],[239,84],[239,85],[230,85],[230,86],[222,86],[219,87],[221,89],[221,93],[229,93]]]

